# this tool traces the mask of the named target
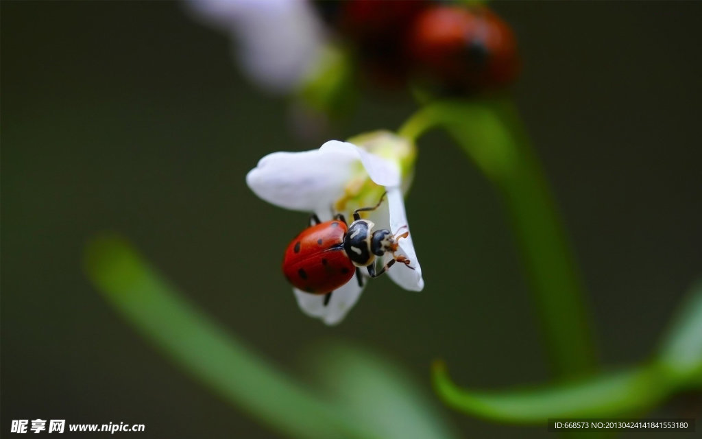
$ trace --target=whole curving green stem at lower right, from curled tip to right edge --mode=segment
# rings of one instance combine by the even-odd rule
[[[443,362],[432,367],[439,396],[454,409],[509,424],[549,418],[637,417],[681,391],[702,389],[702,282],[673,316],[663,343],[647,362],[576,381],[506,391],[459,388]],[[583,433],[592,437],[593,432]]]

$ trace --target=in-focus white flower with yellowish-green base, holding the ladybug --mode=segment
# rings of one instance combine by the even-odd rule
[[[403,192],[411,179],[414,145],[383,132],[352,140],[362,147],[331,140],[319,150],[269,154],[249,171],[246,183],[265,201],[285,209],[314,212],[322,221],[336,213],[352,218],[355,209],[376,205],[387,192],[386,201],[368,218],[376,223],[376,229],[389,229],[393,235],[409,230]],[[404,289],[421,291],[424,280],[411,234],[398,244],[396,253],[409,259],[414,270],[396,264],[388,270],[388,276]],[[392,255],[386,254],[384,262],[390,258]],[[362,289],[352,278],[333,292],[326,306],[323,295],[293,291],[307,315],[335,325],[355,305]]]

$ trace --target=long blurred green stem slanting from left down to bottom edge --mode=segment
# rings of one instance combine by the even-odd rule
[[[226,334],[119,237],[93,240],[85,262],[95,287],[146,339],[252,417],[296,438],[377,437]]]

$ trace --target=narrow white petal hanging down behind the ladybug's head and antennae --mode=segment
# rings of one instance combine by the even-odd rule
[[[400,230],[403,226],[409,228],[407,223],[407,215],[404,211],[404,200],[402,199],[402,190],[399,188],[388,188],[388,208],[390,210],[390,231],[395,234],[397,232],[404,232],[404,229]],[[414,270],[409,269],[404,266],[404,264],[395,264],[390,270],[388,270],[388,275],[396,284],[404,289],[409,289],[410,291],[422,291],[424,288],[424,280],[422,278],[422,268],[419,265],[417,259],[417,254],[414,251],[414,244],[412,242],[412,234],[406,238],[402,238],[398,242],[399,248],[397,253],[402,254],[410,261],[410,266]]]

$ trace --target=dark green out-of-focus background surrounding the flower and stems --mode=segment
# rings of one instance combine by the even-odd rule
[[[702,274],[702,7],[495,7],[519,38],[513,93],[582,264],[601,358],[645,358]],[[344,339],[402,362],[425,388],[437,357],[474,388],[548,378],[501,203],[444,135],[420,141],[407,199],[425,290],[380,279],[325,327],[300,313],[279,274],[305,215],[244,183],[267,152],[321,141],[293,136],[287,103],[241,77],[224,35],[178,3],[1,8],[3,435],[11,419],[41,417],[146,424],[140,437],[278,437],[102,301],[81,273],[81,249],[101,230],[129,237],[294,374],[314,342]],[[393,129],[412,111],[409,98],[366,93],[328,137]],[[546,435],[450,416],[465,437]]]

